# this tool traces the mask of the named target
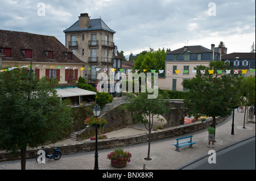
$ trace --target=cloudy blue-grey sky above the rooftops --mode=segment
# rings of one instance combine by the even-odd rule
[[[65,44],[63,30],[87,12],[116,32],[114,42],[125,55],[185,45],[210,49],[220,41],[228,53],[250,52],[255,43],[255,0],[0,1],[1,30],[51,35]]]

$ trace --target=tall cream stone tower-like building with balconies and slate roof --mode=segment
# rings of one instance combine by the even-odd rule
[[[84,75],[88,79],[96,79],[104,69],[109,74],[112,68],[116,69],[115,73],[121,68],[122,56],[113,41],[115,31],[101,18],[90,19],[87,13],[80,14],[79,20],[64,33],[65,46],[86,63]]]

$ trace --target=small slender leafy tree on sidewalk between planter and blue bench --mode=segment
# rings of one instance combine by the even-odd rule
[[[154,116],[159,115],[167,111],[166,102],[162,95],[158,95],[156,99],[147,99],[148,93],[141,93],[139,96],[130,94],[129,102],[125,104],[127,110],[131,111],[134,115],[134,119],[137,123],[144,124],[148,130],[148,152],[146,160],[150,158],[150,142],[151,142],[151,129],[154,121]]]

